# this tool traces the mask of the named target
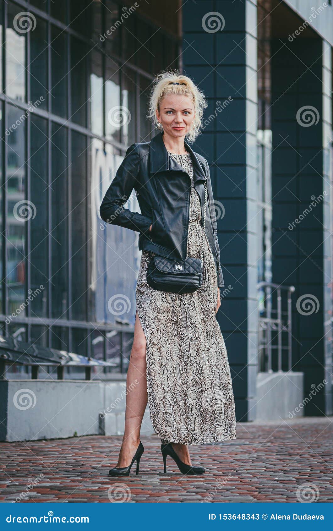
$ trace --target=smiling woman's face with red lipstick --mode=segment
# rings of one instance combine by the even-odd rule
[[[156,110],[158,121],[163,130],[170,136],[185,136],[190,131],[194,120],[194,104],[190,96],[169,94],[160,102],[159,112]]]

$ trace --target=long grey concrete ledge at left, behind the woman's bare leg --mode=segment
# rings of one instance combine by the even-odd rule
[[[108,381],[2,380],[0,404],[2,441],[123,435],[126,375]],[[101,416],[107,418],[104,427]],[[147,406],[142,434],[153,433]]]

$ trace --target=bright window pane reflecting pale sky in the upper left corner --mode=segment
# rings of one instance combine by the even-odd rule
[[[14,18],[22,10],[8,5],[8,27],[6,28],[6,94],[10,98],[25,100],[25,33],[14,29]],[[20,27],[20,20],[15,27]],[[32,20],[33,23],[33,20]],[[24,21],[22,22],[24,27]],[[21,30],[22,31],[22,30]]]

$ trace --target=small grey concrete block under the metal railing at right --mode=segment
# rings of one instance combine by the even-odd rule
[[[302,417],[303,376],[303,372],[259,372],[255,404],[257,421]]]

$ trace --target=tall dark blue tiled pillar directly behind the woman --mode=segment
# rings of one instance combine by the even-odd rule
[[[193,146],[207,158],[216,202],[225,289],[218,312],[238,421],[255,418],[257,311],[257,6],[184,4],[183,70],[208,100]],[[221,290],[223,291],[223,290]]]

